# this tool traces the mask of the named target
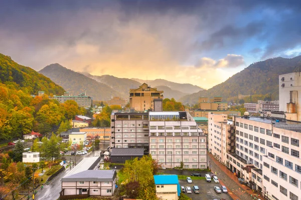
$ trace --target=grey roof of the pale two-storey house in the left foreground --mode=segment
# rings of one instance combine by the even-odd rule
[[[61,181],[73,182],[73,181],[113,181],[116,177],[116,170],[84,170],[78,173],[64,176]]]

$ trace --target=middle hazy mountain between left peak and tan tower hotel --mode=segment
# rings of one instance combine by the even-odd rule
[[[141,85],[140,82],[131,80],[129,78],[118,78],[113,75],[91,75],[90,73],[83,72],[82,74],[94,80],[107,84],[112,89],[118,91],[125,99],[128,99],[129,89],[137,88]]]

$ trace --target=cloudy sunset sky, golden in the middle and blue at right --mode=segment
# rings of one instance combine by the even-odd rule
[[[301,54],[298,0],[4,0],[0,53],[40,70],[211,88],[249,64]]]

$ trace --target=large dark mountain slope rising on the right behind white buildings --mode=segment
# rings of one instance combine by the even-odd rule
[[[200,96],[232,96],[250,94],[271,94],[274,99],[279,98],[279,75],[299,70],[301,55],[293,58],[275,57],[250,64],[242,71],[234,74],[208,90],[202,90],[183,96],[181,102],[198,102]]]

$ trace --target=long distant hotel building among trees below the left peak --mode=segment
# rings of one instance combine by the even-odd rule
[[[62,96],[52,96],[51,98],[57,99],[60,103],[64,103],[66,100],[75,100],[80,107],[91,107],[92,104],[92,98],[86,96],[86,93],[71,96],[69,92],[65,92]]]

